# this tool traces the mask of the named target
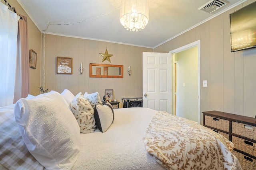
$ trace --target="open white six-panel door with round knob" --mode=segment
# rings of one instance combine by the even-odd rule
[[[172,113],[172,55],[143,52],[143,107]]]

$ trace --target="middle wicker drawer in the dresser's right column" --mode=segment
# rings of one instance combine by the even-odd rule
[[[242,150],[248,154],[256,155],[256,143],[246,141],[242,138],[232,136],[232,142],[234,147],[238,150]]]

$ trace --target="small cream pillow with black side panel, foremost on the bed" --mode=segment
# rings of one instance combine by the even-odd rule
[[[96,105],[94,108],[94,117],[97,127],[101,132],[106,132],[114,121],[114,110],[112,105],[107,102],[103,106]]]

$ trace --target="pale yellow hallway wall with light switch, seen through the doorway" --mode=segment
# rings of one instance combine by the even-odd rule
[[[176,115],[198,122],[198,47],[175,54],[177,61]]]

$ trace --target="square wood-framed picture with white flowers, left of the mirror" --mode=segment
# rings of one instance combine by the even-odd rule
[[[57,74],[72,74],[72,58],[57,57],[56,73]]]

